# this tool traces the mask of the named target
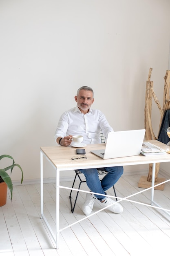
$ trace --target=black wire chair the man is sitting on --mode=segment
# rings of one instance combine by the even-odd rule
[[[101,137],[101,142],[105,143],[106,138],[103,136],[102,133],[100,134],[100,137]],[[79,186],[78,186],[78,189],[80,189],[80,186],[81,186],[82,182],[86,182],[86,180],[82,180],[81,175],[83,175],[83,177],[84,177],[84,174],[81,173],[80,170],[74,170],[74,171],[75,171],[75,178],[74,178],[74,181],[73,181],[72,189],[74,187],[75,180],[76,180],[77,177],[79,178],[79,181],[80,181],[79,182]],[[105,171],[104,168],[97,168],[97,173],[98,173],[98,175],[106,175],[108,172]],[[70,203],[71,203],[71,212],[73,213],[73,211],[75,209],[75,204],[77,202],[77,197],[78,197],[79,191],[77,191],[77,195],[76,195],[76,198],[75,198],[74,205],[72,204],[72,200],[71,200],[72,199],[72,197],[71,197],[72,191],[73,190],[71,190],[71,192],[70,192],[69,198],[70,198]],[[115,187],[114,186],[113,186],[113,191],[114,191],[115,197],[116,197],[116,191],[115,191]],[[116,201],[117,201],[117,198],[116,198]]]

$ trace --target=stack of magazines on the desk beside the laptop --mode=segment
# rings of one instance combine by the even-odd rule
[[[163,148],[159,148],[158,146],[153,145],[150,142],[143,142],[141,148],[141,154],[144,156],[147,155],[160,155],[165,154],[166,150]]]

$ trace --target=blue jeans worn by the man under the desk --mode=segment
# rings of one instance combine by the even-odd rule
[[[80,170],[86,177],[88,188],[95,194],[106,194],[105,191],[110,189],[119,180],[123,174],[123,166],[105,167],[108,172],[100,181],[96,168]],[[98,200],[104,199],[104,195],[95,195]]]

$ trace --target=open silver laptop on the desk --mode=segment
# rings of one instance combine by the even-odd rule
[[[145,129],[109,132],[106,148],[104,150],[91,150],[91,153],[103,159],[139,155],[144,136]]]

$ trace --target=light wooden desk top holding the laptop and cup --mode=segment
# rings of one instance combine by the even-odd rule
[[[151,140],[150,142],[161,148],[166,148],[166,144],[163,144],[157,140]],[[40,150],[58,171],[95,167],[127,166],[136,164],[170,162],[170,154],[168,153],[165,153],[163,155],[149,155],[146,157],[143,155],[136,155],[131,157],[102,159],[90,152],[91,150],[104,149],[105,145],[106,144],[104,143],[88,144],[86,147],[84,147],[86,149],[87,159],[83,158],[78,160],[71,160],[71,157],[76,155],[76,148],[72,146],[47,146],[41,147]]]

